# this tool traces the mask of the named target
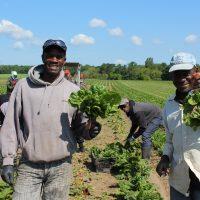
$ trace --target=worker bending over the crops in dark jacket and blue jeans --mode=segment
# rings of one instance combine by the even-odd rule
[[[153,104],[139,103],[128,99],[123,99],[119,108],[126,113],[132,122],[125,146],[142,135],[142,158],[150,159],[151,136],[162,124],[161,109]]]

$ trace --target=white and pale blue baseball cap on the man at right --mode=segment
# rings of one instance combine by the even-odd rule
[[[171,67],[169,72],[177,70],[190,70],[196,65],[196,59],[194,55],[185,52],[179,52],[173,55],[171,59]]]

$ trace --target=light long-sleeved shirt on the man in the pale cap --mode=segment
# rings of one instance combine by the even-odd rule
[[[171,96],[163,110],[166,144],[163,155],[169,156],[169,184],[187,196],[189,168],[200,180],[200,128],[194,131],[183,122],[182,105]]]

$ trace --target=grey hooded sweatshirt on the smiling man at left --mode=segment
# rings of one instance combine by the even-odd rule
[[[32,162],[51,162],[71,156],[76,141],[71,129],[75,108],[67,102],[79,87],[64,78],[53,82],[40,79],[43,65],[29,70],[10,97],[0,133],[3,165],[13,165],[18,146],[22,156]]]

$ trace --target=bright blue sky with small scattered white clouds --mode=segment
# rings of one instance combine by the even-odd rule
[[[169,63],[179,51],[200,63],[198,0],[0,0],[0,64],[40,64],[42,44],[63,39],[81,64]]]

